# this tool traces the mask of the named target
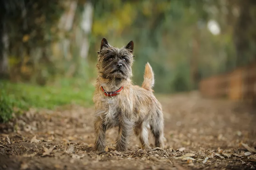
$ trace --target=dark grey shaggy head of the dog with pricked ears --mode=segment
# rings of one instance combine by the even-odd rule
[[[98,54],[96,67],[101,77],[105,79],[128,79],[132,76],[133,41],[119,49],[111,46],[103,38]]]

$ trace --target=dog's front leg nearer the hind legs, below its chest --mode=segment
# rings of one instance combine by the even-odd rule
[[[121,118],[118,128],[118,136],[116,138],[116,150],[126,151],[128,149],[129,137],[133,124],[127,118]]]

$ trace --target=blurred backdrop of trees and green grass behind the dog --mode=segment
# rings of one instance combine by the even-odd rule
[[[91,104],[103,37],[116,47],[134,41],[134,84],[142,83],[150,62],[156,93],[195,90],[203,78],[256,61],[255,0],[12,0],[0,5],[6,107]]]

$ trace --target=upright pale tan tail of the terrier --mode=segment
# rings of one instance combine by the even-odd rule
[[[148,91],[153,91],[152,88],[154,86],[154,83],[155,79],[152,67],[150,66],[149,63],[147,63],[145,66],[144,81],[141,87]]]

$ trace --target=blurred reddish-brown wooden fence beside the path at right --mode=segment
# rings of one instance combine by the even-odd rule
[[[203,97],[226,97],[234,101],[256,104],[256,63],[202,79],[199,90]]]

